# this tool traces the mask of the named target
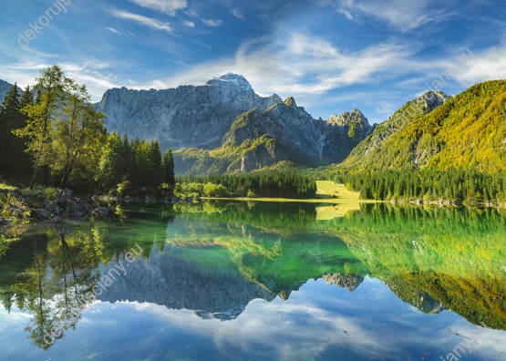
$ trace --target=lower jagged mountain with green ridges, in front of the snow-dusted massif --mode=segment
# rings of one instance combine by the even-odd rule
[[[196,167],[201,161],[199,154],[192,155],[192,150],[176,152],[176,170],[193,174],[199,169],[210,173],[250,171],[282,160],[305,166],[338,163],[371,129],[357,109],[325,121],[313,119],[294,98],[287,98],[265,110],[254,108],[234,120],[222,138],[224,151],[218,153],[233,154],[235,150],[239,156],[212,159],[208,153],[205,163]]]

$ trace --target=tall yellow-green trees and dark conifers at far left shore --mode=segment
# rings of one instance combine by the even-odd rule
[[[30,88],[17,99],[16,87],[5,99],[0,138],[6,139],[2,153],[10,162],[2,167],[3,175],[29,179],[31,188],[55,180],[61,188],[73,184],[76,190],[89,190],[97,149],[106,135],[104,116],[89,104],[86,87],[66,77],[60,67],[44,70],[36,89],[35,101]]]

